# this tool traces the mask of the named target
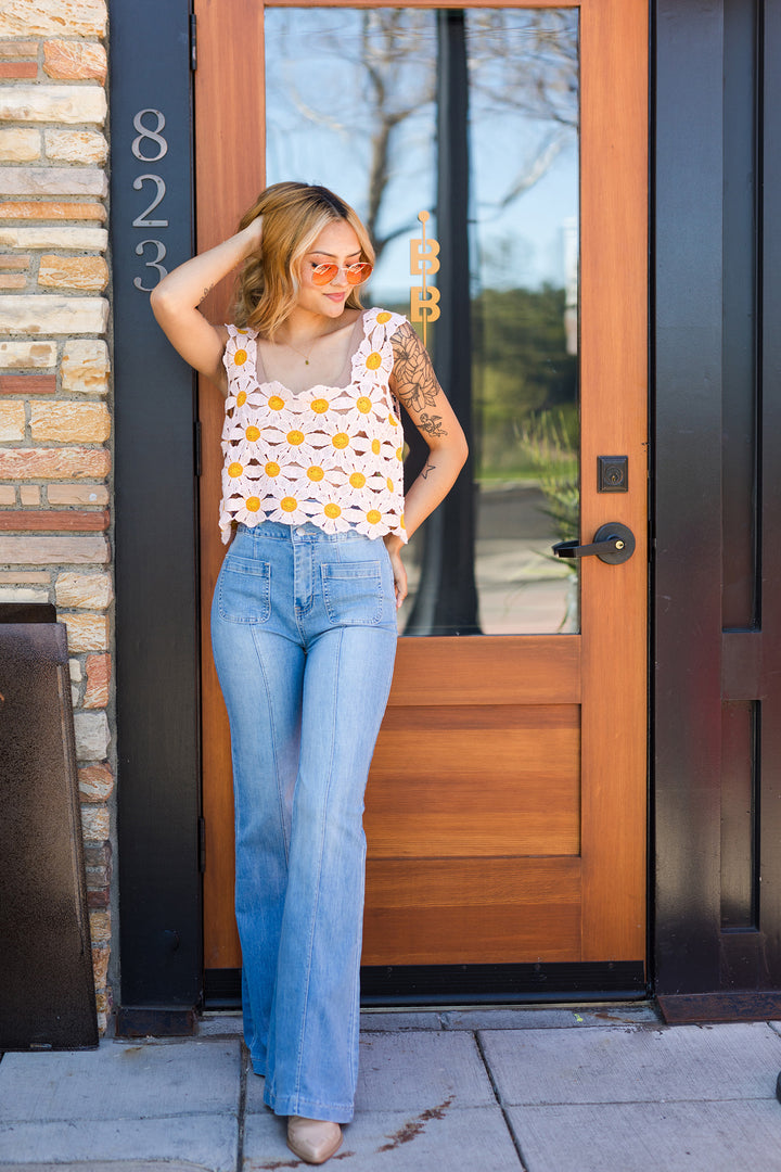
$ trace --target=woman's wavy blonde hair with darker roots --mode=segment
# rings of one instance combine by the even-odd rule
[[[374,265],[375,250],[356,212],[328,188],[308,183],[274,183],[241,217],[239,231],[263,217],[260,252],[248,257],[237,279],[233,320],[273,339],[293,312],[301,279],[301,260],[323,229],[345,220],[361,245],[361,260]],[[357,287],[345,305],[361,309]]]

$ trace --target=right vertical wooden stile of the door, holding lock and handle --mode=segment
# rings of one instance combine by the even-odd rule
[[[598,19],[597,19],[598,15]],[[582,564],[583,960],[645,956],[648,743],[648,4],[584,5],[581,120],[581,482],[597,456],[629,456],[630,491],[582,491],[581,537],[616,520],[637,540],[630,561]],[[615,101],[615,94],[621,101]],[[608,111],[610,117],[607,116]],[[622,165],[595,161],[615,156]],[[619,394],[616,393],[616,384]],[[608,421],[610,421],[608,423]],[[594,484],[594,481],[591,481]],[[630,580],[631,585],[628,584]],[[622,593],[637,605],[626,613]],[[622,615],[605,622],[605,615]],[[611,687],[632,663],[629,687]],[[616,860],[628,881],[616,891]]]

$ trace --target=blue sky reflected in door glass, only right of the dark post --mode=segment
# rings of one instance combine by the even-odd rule
[[[466,29],[481,282],[561,287],[577,216],[577,13],[470,9]]]

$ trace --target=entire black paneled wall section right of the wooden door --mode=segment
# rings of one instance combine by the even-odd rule
[[[781,1009],[781,2],[659,0],[656,981]],[[692,458],[694,449],[696,458]]]

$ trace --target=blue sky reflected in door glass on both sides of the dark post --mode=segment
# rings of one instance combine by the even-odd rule
[[[576,49],[574,11],[467,12],[482,284],[564,282],[562,229],[577,216]],[[372,151],[389,136],[374,225],[390,237],[372,278],[378,300],[409,297],[407,240],[436,199],[436,56],[431,9],[266,12],[268,183],[324,183],[366,218]],[[502,206],[525,178],[534,182]]]

